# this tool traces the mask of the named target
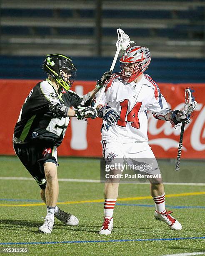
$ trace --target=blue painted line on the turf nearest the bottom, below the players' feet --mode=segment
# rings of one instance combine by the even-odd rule
[[[152,238],[152,239],[119,239],[119,240],[81,240],[81,241],[59,241],[59,242],[18,242],[18,243],[0,243],[0,245],[17,245],[17,244],[54,244],[54,243],[106,243],[106,242],[147,242],[147,241],[174,241],[187,239],[205,239],[201,237],[179,237],[179,238]]]

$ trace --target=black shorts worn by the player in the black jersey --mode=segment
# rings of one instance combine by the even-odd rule
[[[46,187],[46,179],[43,164],[52,162],[57,165],[56,146],[46,148],[41,145],[13,143],[16,155],[36,180],[41,189]]]

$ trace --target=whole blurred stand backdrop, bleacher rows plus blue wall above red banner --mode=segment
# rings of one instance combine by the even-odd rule
[[[75,56],[77,79],[97,79],[109,69],[121,27],[137,45],[149,47],[149,73],[157,81],[205,81],[204,0],[102,0],[101,53],[96,56],[98,2],[2,0],[0,63],[9,63],[13,72],[1,66],[0,78],[41,79],[45,54],[61,52]]]

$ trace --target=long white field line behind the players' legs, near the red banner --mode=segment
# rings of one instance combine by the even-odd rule
[[[29,177],[0,177],[0,179],[7,180],[34,180]],[[58,179],[60,182],[89,182],[89,183],[100,183],[100,179]],[[131,183],[131,182],[130,182]],[[135,183],[135,182],[132,182]],[[147,184],[149,183],[137,183],[137,184]],[[166,185],[185,185],[185,186],[205,186],[205,183],[169,183],[163,182]]]

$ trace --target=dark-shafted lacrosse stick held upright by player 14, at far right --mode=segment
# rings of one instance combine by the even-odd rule
[[[185,89],[185,105],[182,110],[183,115],[189,116],[189,118],[190,118],[190,114],[198,106],[197,102],[194,100],[194,96],[193,96],[192,92],[193,92],[193,90],[191,90],[191,89]],[[189,123],[189,122],[190,121],[188,121],[187,123]],[[177,152],[177,161],[176,161],[176,166],[175,166],[176,171],[179,171],[179,169],[180,169],[180,158],[181,158],[181,153],[182,153],[182,144],[183,144],[185,123],[186,122],[182,123],[182,126],[181,126],[180,141],[179,141],[179,147],[178,147],[178,152]]]

